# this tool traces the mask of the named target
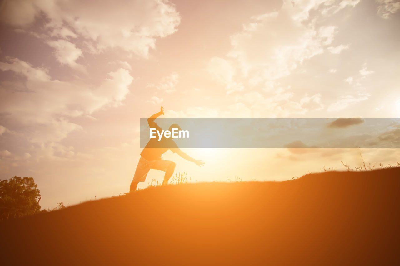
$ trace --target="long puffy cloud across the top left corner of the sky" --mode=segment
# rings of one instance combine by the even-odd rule
[[[144,58],[157,38],[173,34],[180,24],[174,5],[164,0],[101,0],[95,9],[90,1],[13,0],[4,3],[0,19],[28,29],[43,20],[46,24],[35,34],[78,37],[91,52],[120,48]]]

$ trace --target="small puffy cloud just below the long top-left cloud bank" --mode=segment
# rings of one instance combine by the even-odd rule
[[[85,68],[76,63],[76,60],[82,56],[82,51],[76,48],[75,44],[68,42],[66,40],[47,41],[47,44],[54,48],[56,59],[62,65],[68,65],[79,71],[85,71]]]

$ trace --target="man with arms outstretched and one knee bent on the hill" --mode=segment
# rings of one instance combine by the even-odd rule
[[[161,127],[157,125],[154,120],[160,115],[164,115],[164,107],[161,106],[161,109],[158,113],[150,116],[147,119],[150,128],[155,128],[157,131],[162,132]],[[169,131],[172,129],[182,130],[179,125],[173,124],[170,126]],[[198,166],[204,165],[204,162],[201,160],[195,160],[183,151],[178,148],[173,138],[162,137],[160,141],[157,138],[151,138],[150,141],[144,147],[142,153],[140,153],[141,157],[139,159],[138,166],[136,167],[135,175],[133,177],[132,183],[130,184],[130,192],[135,191],[139,182],[144,182],[146,180],[147,174],[150,169],[161,170],[165,172],[164,181],[162,181],[162,185],[166,185],[168,180],[174,174],[176,164],[173,161],[163,160],[161,159],[161,155],[168,150],[171,150],[173,153],[177,153],[183,159],[191,161]]]

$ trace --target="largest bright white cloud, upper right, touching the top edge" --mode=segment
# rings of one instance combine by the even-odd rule
[[[228,56],[252,84],[290,75],[306,60],[322,54],[332,44],[336,26],[305,22],[311,10],[324,1],[284,1],[278,12],[254,16],[243,30],[231,36]],[[332,52],[344,49],[339,45]],[[236,73],[236,72],[235,72]]]

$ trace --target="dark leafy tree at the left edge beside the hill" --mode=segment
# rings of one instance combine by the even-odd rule
[[[32,214],[40,197],[38,185],[32,177],[14,176],[0,181],[0,218]],[[40,205],[36,211],[40,210]]]

